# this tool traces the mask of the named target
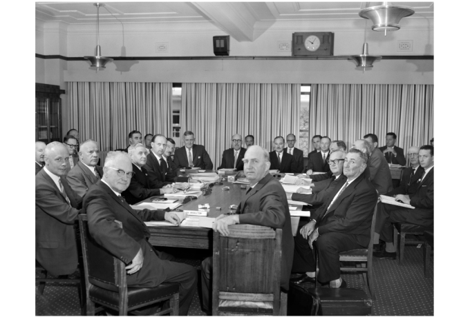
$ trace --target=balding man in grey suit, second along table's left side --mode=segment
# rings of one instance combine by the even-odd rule
[[[80,145],[79,162],[67,174],[68,185],[80,196],[85,196],[88,188],[103,176],[102,167],[98,166],[98,145],[93,140],[86,140]]]

